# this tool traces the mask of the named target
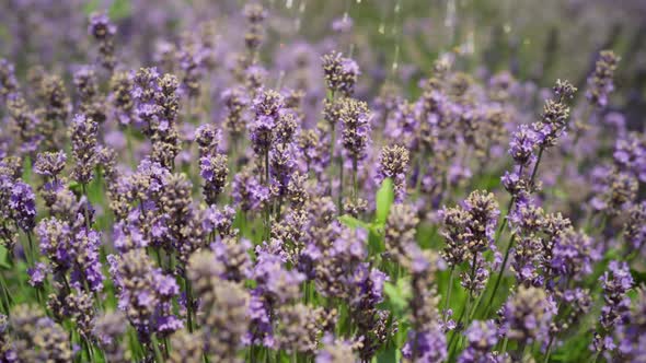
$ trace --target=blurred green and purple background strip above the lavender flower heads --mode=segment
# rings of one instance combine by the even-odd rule
[[[69,73],[95,51],[88,15],[105,11],[117,24],[124,67],[149,66],[191,34],[210,37],[216,63],[231,69],[243,47],[242,9],[233,0],[0,0],[0,55],[19,75],[42,65]],[[646,112],[644,0],[265,0],[263,61],[269,77],[289,77],[298,57],[318,63],[331,48],[355,57],[364,94],[392,82],[416,96],[438,56],[487,79],[509,70],[538,87],[567,78],[582,86],[600,49],[622,57],[613,108],[641,122]],[[69,67],[70,69],[59,69]],[[314,70],[315,67],[312,67]],[[377,86],[376,86],[377,85]]]

